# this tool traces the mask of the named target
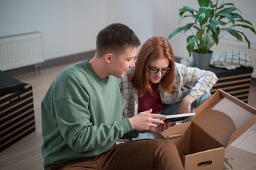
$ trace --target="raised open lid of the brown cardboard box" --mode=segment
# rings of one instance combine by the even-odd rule
[[[195,132],[205,132],[208,135],[208,141],[199,139],[196,137],[199,134],[194,133],[191,142],[195,145],[192,146],[199,147],[196,143],[204,140],[201,142],[213,142],[216,147],[227,147],[256,122],[255,115],[255,108],[218,90],[199,108],[196,108],[196,115],[192,120],[192,129]],[[191,148],[191,150],[193,152],[194,149]]]

